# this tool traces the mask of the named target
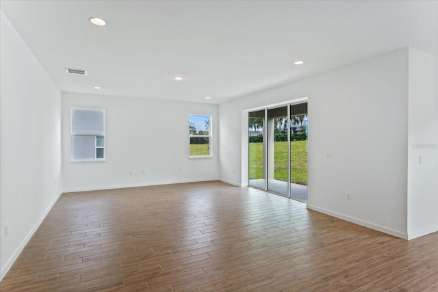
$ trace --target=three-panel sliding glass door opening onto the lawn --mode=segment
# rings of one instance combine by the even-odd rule
[[[250,187],[307,200],[307,103],[248,116]]]

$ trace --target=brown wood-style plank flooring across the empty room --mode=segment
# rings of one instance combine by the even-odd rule
[[[438,291],[438,233],[398,239],[220,182],[63,194],[1,291]]]

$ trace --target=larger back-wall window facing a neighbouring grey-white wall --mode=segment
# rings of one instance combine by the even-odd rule
[[[71,109],[74,160],[105,158],[105,110]]]

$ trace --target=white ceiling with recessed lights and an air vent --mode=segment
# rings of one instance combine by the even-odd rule
[[[222,103],[403,47],[438,55],[438,1],[58,0],[0,8],[64,92]],[[92,25],[90,16],[108,24]]]

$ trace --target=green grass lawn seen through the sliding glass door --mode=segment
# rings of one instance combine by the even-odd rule
[[[291,142],[291,181],[307,185],[307,142]],[[263,178],[263,143],[249,144],[249,178]],[[287,181],[287,142],[274,142],[274,178]]]

